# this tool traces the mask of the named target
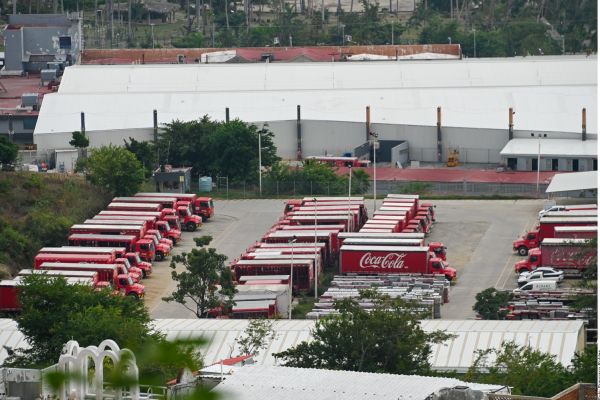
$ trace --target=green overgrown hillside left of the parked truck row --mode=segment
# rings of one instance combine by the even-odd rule
[[[44,246],[67,244],[71,225],[90,218],[111,195],[81,177],[0,173],[0,278],[31,268]]]

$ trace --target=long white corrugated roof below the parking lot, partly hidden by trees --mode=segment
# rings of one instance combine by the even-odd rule
[[[244,319],[158,319],[154,327],[169,340],[204,337],[200,348],[205,365],[239,355],[235,340],[248,325]],[[313,320],[276,320],[276,337],[267,344],[255,360],[258,365],[275,365],[273,353],[279,353],[302,341],[310,340]],[[570,365],[576,351],[583,350],[583,321],[484,321],[484,320],[424,320],[425,331],[443,330],[457,335],[445,344],[432,346],[430,362],[435,370],[465,371],[475,360],[477,350],[499,348],[503,341],[515,341],[556,356],[557,361]],[[0,364],[8,347],[26,346],[23,335],[13,320],[0,319]],[[491,360],[491,359],[490,359]]]

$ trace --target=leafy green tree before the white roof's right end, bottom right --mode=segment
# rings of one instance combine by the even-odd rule
[[[512,394],[540,397],[554,396],[573,383],[571,373],[553,355],[514,342],[480,352],[465,380],[506,385],[513,388]]]

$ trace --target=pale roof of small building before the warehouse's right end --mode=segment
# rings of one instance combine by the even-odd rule
[[[503,157],[597,157],[597,140],[513,139],[500,151]]]

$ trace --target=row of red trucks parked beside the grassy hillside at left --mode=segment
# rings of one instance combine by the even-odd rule
[[[195,194],[138,193],[114,198],[106,210],[71,227],[68,246],[42,248],[33,268],[1,281],[0,311],[20,310],[23,279],[34,274],[143,299],[145,288],[140,282],[152,275],[152,261],[170,255],[181,240],[182,226],[196,230],[213,215],[213,200]]]

